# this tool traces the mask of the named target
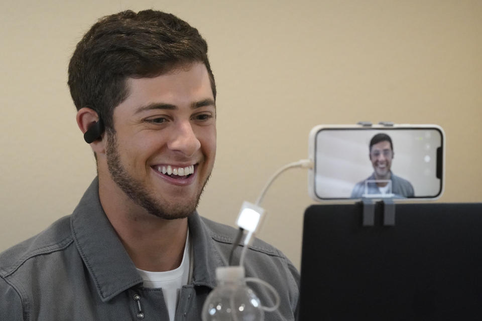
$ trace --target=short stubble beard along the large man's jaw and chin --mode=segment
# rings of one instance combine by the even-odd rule
[[[144,208],[149,214],[166,220],[186,218],[193,214],[210,177],[209,174],[194,199],[184,200],[182,204],[162,204],[152,196],[142,181],[134,178],[123,166],[118,153],[115,133],[107,133],[105,154],[107,158],[107,168],[114,183],[117,184],[135,204]]]

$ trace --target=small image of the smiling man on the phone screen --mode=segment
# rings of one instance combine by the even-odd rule
[[[370,140],[369,150],[369,158],[374,172],[368,179],[355,185],[351,198],[373,195],[388,195],[397,198],[414,197],[412,184],[394,175],[391,171],[395,155],[392,138],[384,133],[376,134]]]

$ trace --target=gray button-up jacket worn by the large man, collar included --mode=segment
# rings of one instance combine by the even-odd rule
[[[236,230],[197,213],[188,219],[193,252],[190,284],[182,287],[176,321],[200,320],[215,269],[227,265]],[[236,252],[238,255],[240,252]],[[256,240],[245,258],[247,276],[273,285],[281,296],[265,320],[294,320],[299,273],[277,249]],[[134,263],[107,220],[98,180],[72,215],[0,254],[1,320],[169,320],[161,289],[144,288]],[[262,304],[271,293],[250,284]]]

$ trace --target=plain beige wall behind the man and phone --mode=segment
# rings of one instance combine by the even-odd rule
[[[209,44],[218,152],[199,211],[233,224],[281,166],[307,156],[316,124],[435,123],[447,135],[445,195],[482,200],[482,2],[3,1],[0,13],[0,250],[71,213],[95,175],[66,86],[96,18],[172,12]],[[259,236],[299,266],[307,173],[268,192]]]

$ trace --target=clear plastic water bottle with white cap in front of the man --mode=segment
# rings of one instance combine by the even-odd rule
[[[217,286],[202,307],[202,321],[263,321],[260,299],[244,281],[243,266],[216,268]]]

